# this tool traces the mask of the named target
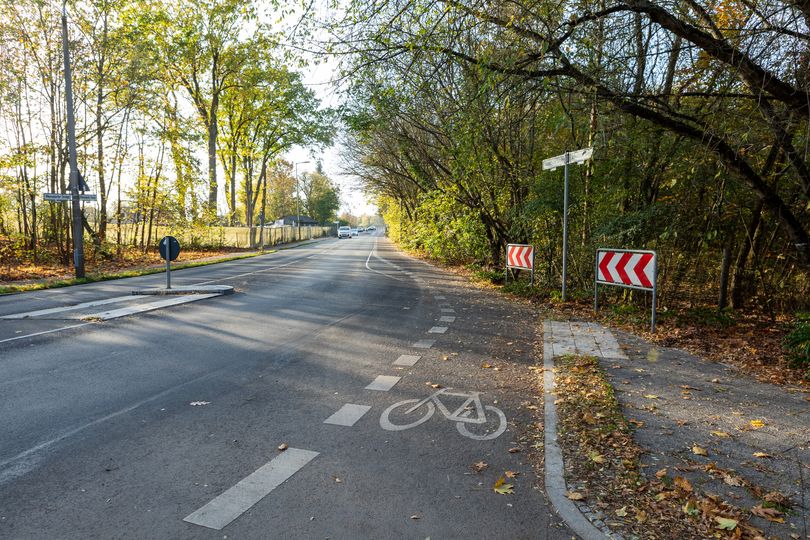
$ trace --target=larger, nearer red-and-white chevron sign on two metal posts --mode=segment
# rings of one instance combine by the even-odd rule
[[[593,287],[593,309],[599,309],[599,285],[615,285],[627,289],[650,291],[652,317],[650,328],[655,332],[655,298],[658,290],[658,256],[654,251],[634,249],[596,250],[596,279]]]

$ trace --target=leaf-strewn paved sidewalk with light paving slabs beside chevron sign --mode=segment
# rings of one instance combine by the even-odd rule
[[[743,510],[781,493],[792,503],[785,522],[751,516],[751,524],[768,538],[810,538],[806,393],[757,382],[732,367],[630,334],[617,332],[614,338],[594,323],[546,321],[544,333],[544,356],[600,359],[646,450],[642,467],[648,479],[669,468],[696,491]],[[696,455],[695,446],[708,455]]]

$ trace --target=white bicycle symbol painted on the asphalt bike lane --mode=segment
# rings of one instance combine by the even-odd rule
[[[470,439],[488,441],[498,438],[506,431],[506,415],[497,407],[484,406],[481,403],[481,392],[450,392],[449,390],[451,389],[442,388],[423,400],[406,399],[394,403],[380,416],[380,427],[388,431],[402,431],[416,427],[427,422],[438,406],[445,418],[456,423],[458,432]],[[466,400],[451,413],[439,396],[462,397]],[[412,407],[402,410],[403,407],[412,403],[414,404]],[[494,413],[494,417],[490,415],[491,418],[488,419],[488,412]],[[470,428],[473,426],[478,429],[471,431]]]

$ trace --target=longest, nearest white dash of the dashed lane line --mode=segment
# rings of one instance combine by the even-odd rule
[[[288,448],[225,493],[183,518],[183,521],[221,530],[264,499],[317,455],[318,452],[311,450]]]

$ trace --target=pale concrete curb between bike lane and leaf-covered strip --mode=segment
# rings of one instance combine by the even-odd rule
[[[549,338],[551,329],[543,322],[543,409],[545,419],[545,476],[546,495],[566,525],[583,540],[614,538],[599,530],[580,509],[565,496],[565,466],[562,451],[557,444],[557,405],[554,403],[554,355]]]

